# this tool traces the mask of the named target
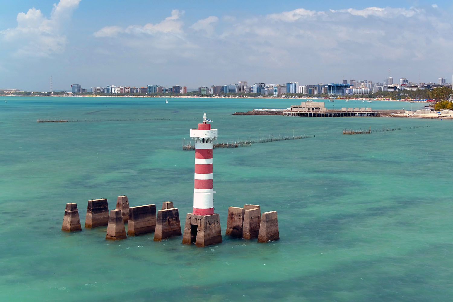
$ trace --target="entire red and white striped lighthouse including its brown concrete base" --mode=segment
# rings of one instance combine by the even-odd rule
[[[212,183],[212,147],[217,139],[217,129],[211,129],[212,122],[203,114],[198,128],[190,129],[195,140],[195,173],[193,186],[193,212],[186,216],[183,243],[207,246],[222,242],[220,218],[214,213],[214,187]]]

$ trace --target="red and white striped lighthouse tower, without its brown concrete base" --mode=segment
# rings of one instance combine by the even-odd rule
[[[214,188],[212,185],[212,141],[217,139],[217,129],[211,129],[211,122],[203,114],[203,123],[198,129],[190,129],[195,140],[195,181],[193,187],[193,214],[214,214]]]

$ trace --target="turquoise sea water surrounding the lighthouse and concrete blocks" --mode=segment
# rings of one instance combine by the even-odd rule
[[[299,101],[164,100],[0,103],[1,301],[451,301],[451,120],[231,116]],[[222,232],[228,206],[259,204],[278,212],[279,241],[224,236],[196,248],[153,234],[106,241],[106,227],[60,230],[67,202],[77,202],[83,225],[89,199],[107,198],[112,209],[123,194],[130,206],[173,201],[183,224],[194,154],[181,144],[203,112],[219,142],[316,134],[214,150]],[[36,123],[60,118],[165,120]],[[342,135],[370,126],[402,130]]]

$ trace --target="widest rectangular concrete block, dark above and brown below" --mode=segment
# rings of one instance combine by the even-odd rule
[[[154,232],[156,228],[156,205],[131,206],[127,235],[136,236]]]

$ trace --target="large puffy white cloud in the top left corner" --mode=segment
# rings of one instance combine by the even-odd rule
[[[17,27],[0,31],[5,42],[18,45],[16,54],[35,57],[62,53],[67,39],[61,33],[72,11],[77,9],[80,0],[60,0],[53,5],[50,18],[34,7],[28,12],[17,14]]]

